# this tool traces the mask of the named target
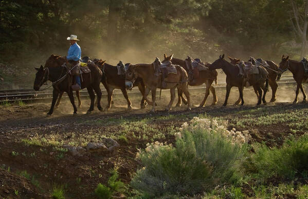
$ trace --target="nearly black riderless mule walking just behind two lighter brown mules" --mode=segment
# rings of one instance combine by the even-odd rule
[[[224,71],[224,73],[226,74],[226,98],[225,98],[225,102],[223,104],[223,106],[227,105],[228,102],[228,98],[229,98],[229,94],[230,94],[230,90],[233,86],[238,87],[239,92],[240,92],[240,98],[241,98],[241,106],[244,105],[244,99],[243,99],[243,89],[244,89],[244,77],[239,75],[240,69],[239,67],[227,62],[225,59],[225,54],[220,55],[219,59],[217,59],[215,62],[213,62],[210,66],[209,69],[210,70],[214,70],[214,69],[222,69]],[[262,90],[264,91],[263,97],[262,97],[262,101],[263,103],[266,103],[265,101],[265,95],[266,95],[266,91],[267,91],[267,72],[264,69],[259,69],[259,74],[257,75],[253,75],[251,76],[251,81],[249,81],[249,83],[253,86],[254,89],[256,89],[259,93],[259,99],[258,99],[258,103],[257,105],[261,104],[261,97],[262,97]],[[261,75],[261,78],[260,76]],[[265,77],[262,77],[265,76]],[[266,82],[265,86],[264,83]],[[261,90],[262,89],[262,90]]]

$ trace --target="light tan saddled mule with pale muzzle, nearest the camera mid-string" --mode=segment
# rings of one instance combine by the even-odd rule
[[[171,57],[172,58],[172,57]],[[191,110],[191,104],[190,104],[190,96],[188,92],[188,74],[185,71],[184,68],[174,65],[176,68],[176,74],[168,74],[165,78],[166,86],[162,86],[162,75],[159,74],[156,76],[155,67],[159,67],[161,64],[159,58],[156,57],[155,61],[152,64],[135,64],[130,65],[127,72],[126,72],[126,79],[133,82],[137,77],[141,77],[143,79],[144,85],[146,85],[146,91],[143,93],[144,99],[148,102],[149,105],[152,105],[151,112],[155,112],[155,101],[156,101],[156,89],[170,89],[170,95],[171,99],[168,104],[168,107],[166,108],[166,111],[170,111],[174,98],[175,98],[175,88],[178,90],[182,90],[187,97],[187,109]],[[149,94],[151,90],[152,93],[152,102],[149,101],[147,98],[147,95]]]

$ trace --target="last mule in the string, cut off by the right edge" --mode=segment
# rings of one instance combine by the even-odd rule
[[[284,55],[282,55],[281,62],[279,63],[279,72],[280,74],[282,74],[286,70],[289,70],[292,72],[293,78],[295,79],[297,83],[297,87],[295,91],[295,99],[293,103],[294,104],[297,103],[297,96],[299,93],[299,89],[303,93],[303,102],[306,102],[307,96],[302,86],[302,83],[308,82],[308,75],[305,75],[303,64],[301,62],[289,59],[289,56],[284,57]]]

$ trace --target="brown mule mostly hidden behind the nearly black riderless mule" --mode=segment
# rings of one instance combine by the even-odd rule
[[[229,56],[228,56],[229,57]],[[230,59],[230,63],[231,64],[239,64],[239,62],[241,61],[238,58],[232,58],[229,57]],[[279,78],[277,78],[277,71],[278,71],[278,66],[273,62],[273,61],[265,61],[268,65],[269,68],[265,68],[268,72],[268,84],[271,88],[271,99],[270,102],[275,102],[276,101],[276,91],[278,88],[278,84],[276,82],[276,79],[278,79],[277,81],[279,81]],[[257,90],[255,90],[255,93],[257,95],[257,98],[259,98],[259,93]],[[241,103],[241,97],[239,97],[238,101],[234,103],[234,105],[238,105]]]

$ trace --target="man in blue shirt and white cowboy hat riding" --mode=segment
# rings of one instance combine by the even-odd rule
[[[76,43],[76,41],[80,41],[80,40],[77,39],[77,35],[74,35],[74,34],[67,37],[67,40],[69,40],[70,47],[68,49],[66,59],[68,61],[68,65],[70,65],[70,66],[68,66],[68,68],[71,68],[71,67],[74,67],[74,66],[76,66],[80,63],[81,49],[80,49],[80,46]],[[77,66],[77,67],[79,67],[79,66]],[[77,71],[77,70],[75,70],[75,71]],[[78,69],[78,72],[79,72],[79,69]],[[81,89],[80,77],[79,77],[78,72],[77,72],[77,74],[74,74],[76,84],[71,86],[71,88],[73,90],[80,90]]]

